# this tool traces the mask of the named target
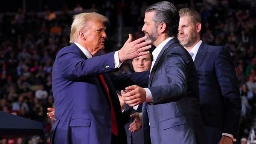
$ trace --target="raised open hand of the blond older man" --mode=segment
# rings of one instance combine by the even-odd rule
[[[123,62],[125,60],[133,59],[141,55],[149,54],[148,49],[151,48],[151,40],[146,40],[146,36],[141,37],[137,40],[132,41],[132,35],[129,34],[128,40],[125,42],[124,46],[119,50],[119,61]]]

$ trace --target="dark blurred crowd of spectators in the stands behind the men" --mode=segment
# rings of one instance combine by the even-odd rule
[[[107,16],[108,37],[102,53],[112,52],[121,48],[128,33],[134,39],[144,36],[141,32],[144,11],[157,1],[96,0],[95,3],[78,3],[75,0],[52,2],[51,5],[46,3],[44,6],[41,3],[38,10],[24,1],[19,2],[20,6],[15,10],[0,12],[0,110],[40,121],[44,131],[41,135],[12,138],[2,143],[49,144],[49,133],[54,123],[46,114],[47,107],[54,107],[52,64],[58,50],[69,45],[73,15],[98,12]],[[178,9],[192,7],[200,12],[202,40],[230,50],[242,99],[238,140],[248,138],[250,129],[256,126],[256,2],[176,0],[172,3]],[[133,70],[127,61],[116,73],[130,72]]]

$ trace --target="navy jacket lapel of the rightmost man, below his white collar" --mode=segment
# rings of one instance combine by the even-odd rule
[[[208,49],[208,46],[203,42],[201,43],[201,45],[199,46],[199,49],[198,49],[198,52],[195,56],[195,68],[196,70],[198,71],[202,61],[204,60],[204,57],[205,55],[207,54],[207,49]]]

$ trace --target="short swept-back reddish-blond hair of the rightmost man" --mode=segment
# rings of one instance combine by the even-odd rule
[[[189,9],[189,8],[180,9],[179,14],[180,14],[180,17],[189,16],[192,23],[194,23],[194,24],[201,23],[200,14],[197,11],[193,10],[193,9]]]

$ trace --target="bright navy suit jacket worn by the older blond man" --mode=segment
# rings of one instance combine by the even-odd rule
[[[148,72],[134,76],[108,75],[113,72],[114,52],[87,59],[75,45],[62,48],[52,69],[55,124],[51,139],[55,144],[110,144],[111,112],[108,96],[99,80],[104,74],[118,126],[117,144],[126,144],[122,112],[116,89],[147,84]],[[144,78],[144,79],[143,79]]]

